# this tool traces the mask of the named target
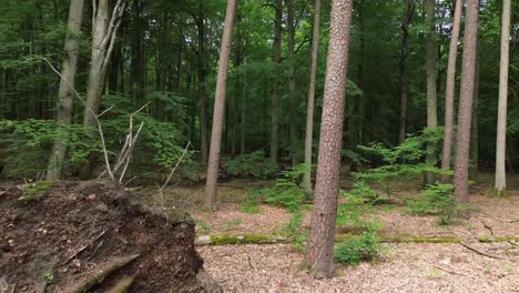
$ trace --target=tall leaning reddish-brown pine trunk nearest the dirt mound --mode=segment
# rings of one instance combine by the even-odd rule
[[[214,101],[213,130],[211,132],[211,150],[207,166],[207,182],[205,185],[205,209],[216,210],[216,188],[218,181],[220,151],[222,148],[222,128],[225,107],[225,91],[228,77],[228,60],[231,55],[231,39],[233,37],[234,16],[237,0],[227,1],[225,28],[220,51],[218,75]]]

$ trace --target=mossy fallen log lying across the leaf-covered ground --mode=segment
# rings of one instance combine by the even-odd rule
[[[335,242],[345,242],[353,239],[357,239],[360,235],[355,234],[337,234]],[[417,236],[417,235],[404,235],[404,236],[380,236],[380,241],[384,243],[461,243],[465,241],[460,238],[447,238],[447,236]],[[519,238],[515,236],[480,236],[479,242],[508,242],[519,241]],[[275,234],[215,234],[215,235],[199,235],[195,240],[195,245],[236,245],[236,244],[281,244],[288,243],[289,240]]]

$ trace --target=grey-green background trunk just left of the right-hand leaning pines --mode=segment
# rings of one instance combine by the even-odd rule
[[[432,129],[438,127],[438,113],[436,104],[436,27],[435,27],[436,0],[426,0],[426,24],[429,32],[426,37],[426,74],[427,74],[427,128]],[[436,145],[429,143],[427,145],[427,163],[434,164],[436,162]],[[426,172],[426,183],[432,183],[432,173]]]

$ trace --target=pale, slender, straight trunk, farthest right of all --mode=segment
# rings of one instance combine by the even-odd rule
[[[507,188],[507,100],[510,54],[510,0],[502,1],[501,62],[499,64],[499,105],[496,146],[496,191],[500,195]]]

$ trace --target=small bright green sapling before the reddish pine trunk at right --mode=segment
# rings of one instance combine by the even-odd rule
[[[468,208],[456,204],[452,184],[435,183],[428,185],[423,194],[424,199],[421,200],[408,201],[407,208],[414,214],[438,215],[441,225],[451,224],[457,212]]]

